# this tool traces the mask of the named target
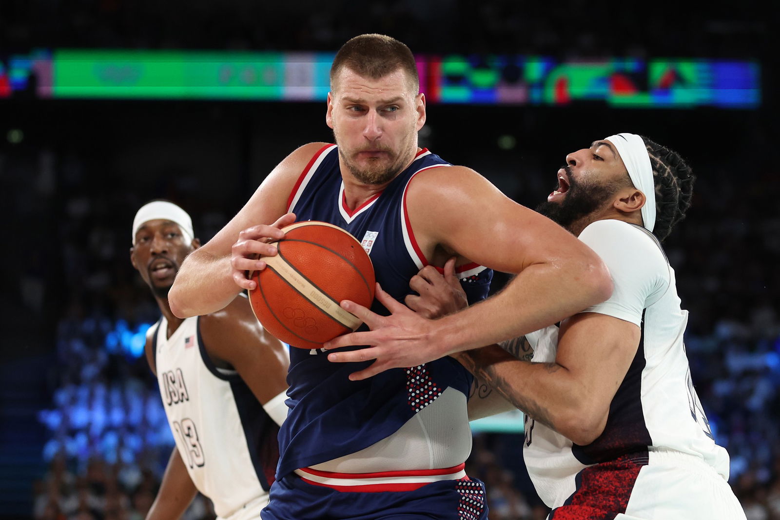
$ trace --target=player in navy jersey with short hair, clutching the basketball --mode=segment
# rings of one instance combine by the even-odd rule
[[[246,270],[264,268],[256,255],[275,254],[267,242],[281,239],[279,228],[296,216],[341,226],[361,240],[378,282],[397,301],[409,295],[421,267],[441,267],[452,255],[471,302],[488,293],[488,268],[519,273],[482,315],[463,324],[463,336],[475,334],[478,345],[608,297],[612,284],[593,251],[473,170],[420,149],[425,118],[409,48],[377,34],[348,41],[333,62],[328,94],[326,122],[336,144],[293,151],[186,259],[171,290],[174,314],[214,312],[254,288]],[[378,303],[374,310],[386,312]],[[495,332],[475,333],[482,322]],[[366,366],[291,349],[290,411],[263,518],[485,518],[483,486],[463,470],[471,448],[470,373],[443,358],[349,379]]]

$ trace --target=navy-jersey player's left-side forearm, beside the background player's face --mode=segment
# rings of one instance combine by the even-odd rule
[[[230,256],[217,257],[200,248],[182,263],[168,303],[173,314],[189,318],[225,308],[240,291],[232,279]]]

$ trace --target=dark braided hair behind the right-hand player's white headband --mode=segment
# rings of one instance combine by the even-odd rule
[[[669,150],[647,137],[642,137],[650,155],[655,184],[655,226],[653,234],[661,242],[669,236],[676,223],[685,218],[693,197],[696,176],[676,151]]]

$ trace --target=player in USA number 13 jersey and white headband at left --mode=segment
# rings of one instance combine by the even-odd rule
[[[244,297],[200,317],[172,314],[168,290],[200,245],[193,236],[190,215],[168,201],[142,206],[133,220],[130,261],[162,312],[146,356],[176,440],[147,519],[179,518],[198,490],[219,518],[260,518],[287,415],[287,353]]]

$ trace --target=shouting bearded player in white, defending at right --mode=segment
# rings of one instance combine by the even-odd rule
[[[494,400],[492,388],[527,412],[524,459],[548,518],[745,518],[691,381],[688,313],[659,243],[685,216],[693,173],[634,134],[566,163],[537,210],[601,255],[615,290],[560,327],[505,342],[514,355],[497,345],[456,354],[488,385],[470,406]]]

